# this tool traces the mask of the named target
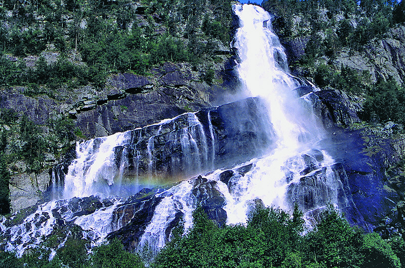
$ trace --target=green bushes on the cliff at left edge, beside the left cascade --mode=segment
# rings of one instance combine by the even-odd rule
[[[49,119],[47,127],[39,126],[26,115],[12,109],[0,110],[0,214],[10,213],[11,170],[38,174],[49,167],[51,157],[64,155],[70,142],[80,138],[71,119]],[[24,164],[18,164],[23,161]]]

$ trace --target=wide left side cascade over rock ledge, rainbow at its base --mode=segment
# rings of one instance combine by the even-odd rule
[[[214,156],[210,163],[208,138],[214,144],[214,134],[211,121],[209,124],[211,137],[195,113],[184,113],[143,128],[78,142],[77,158],[65,176],[63,197],[128,196],[142,189],[141,184],[153,185],[159,176],[184,178],[212,170]],[[162,161],[168,160],[169,166],[164,166]]]

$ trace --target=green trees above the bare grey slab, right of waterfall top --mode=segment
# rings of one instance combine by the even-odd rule
[[[305,53],[290,59],[290,66],[301,76],[319,86],[362,94],[366,76],[346,66],[337,70],[333,65],[339,55],[361,53],[375,38],[402,21],[403,3],[395,1],[354,0],[266,0],[262,6],[275,18],[273,28],[284,41],[305,42]],[[405,20],[405,18],[403,19]],[[308,40],[309,39],[309,40]],[[308,40],[308,41],[307,41]]]

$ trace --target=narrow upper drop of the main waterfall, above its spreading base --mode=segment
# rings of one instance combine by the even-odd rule
[[[318,140],[323,130],[306,120],[311,111],[302,107],[293,92],[299,84],[289,74],[287,55],[271,27],[271,15],[255,5],[233,5],[240,27],[233,47],[239,61],[237,72],[245,94],[267,102],[269,117],[278,136],[278,147],[298,148],[302,141]]]

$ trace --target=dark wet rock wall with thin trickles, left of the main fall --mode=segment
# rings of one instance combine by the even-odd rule
[[[127,174],[163,177],[234,165],[261,155],[272,144],[268,120],[257,98],[186,113],[132,130],[128,144],[115,149],[116,162],[128,158]]]

